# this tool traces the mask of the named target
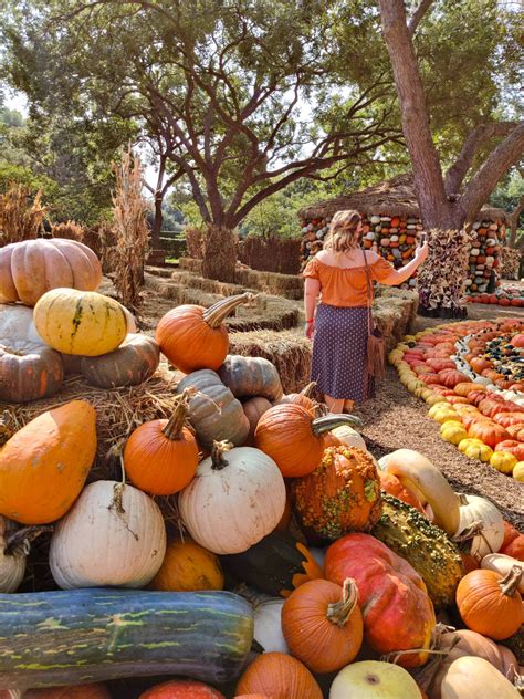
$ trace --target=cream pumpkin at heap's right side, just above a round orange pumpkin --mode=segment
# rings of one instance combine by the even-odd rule
[[[504,541],[504,520],[497,508],[478,495],[459,495],[460,524],[454,539],[460,538],[478,525],[480,533],[469,543],[470,553],[481,561],[489,553],[496,553]]]

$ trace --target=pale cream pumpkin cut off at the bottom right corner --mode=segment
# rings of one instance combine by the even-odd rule
[[[520,699],[521,692],[502,672],[474,656],[462,656],[450,665],[440,686],[442,699]]]

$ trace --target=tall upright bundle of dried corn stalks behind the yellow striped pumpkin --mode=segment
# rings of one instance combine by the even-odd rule
[[[116,191],[113,197],[115,246],[108,251],[113,281],[122,303],[136,310],[140,304],[144,262],[148,252],[147,204],[139,158],[130,148],[120,165],[113,165]]]

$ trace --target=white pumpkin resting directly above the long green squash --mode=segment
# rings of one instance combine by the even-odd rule
[[[158,505],[137,488],[96,481],[84,488],[51,539],[49,562],[60,587],[144,587],[166,553]]]

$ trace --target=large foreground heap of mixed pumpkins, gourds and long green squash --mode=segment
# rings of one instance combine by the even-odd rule
[[[524,535],[422,455],[377,462],[357,418],[229,355],[240,302],[161,319],[186,376],[171,417],[128,436],[120,481],[85,486],[85,400],[1,448],[0,590],[17,590],[41,528],[56,588],[0,594],[0,690],[107,698],[101,682],[171,676],[142,699],[517,697]],[[437,613],[465,628],[444,633]]]

